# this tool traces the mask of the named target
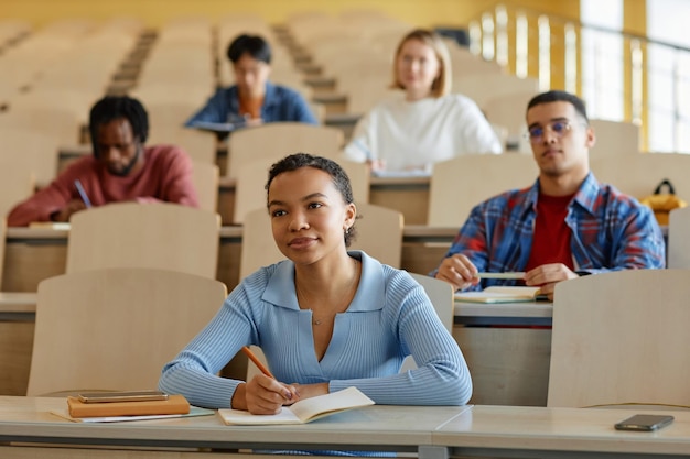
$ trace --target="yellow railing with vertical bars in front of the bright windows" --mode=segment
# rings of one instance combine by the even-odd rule
[[[468,35],[474,54],[580,95],[592,118],[638,124],[643,150],[690,153],[690,48],[510,3],[471,21]]]

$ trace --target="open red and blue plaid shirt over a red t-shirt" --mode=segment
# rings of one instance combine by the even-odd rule
[[[448,254],[462,253],[479,272],[525,271],[532,248],[539,181],[513,189],[472,209]],[[647,206],[600,184],[590,173],[568,205],[565,223],[575,271],[599,273],[665,267],[661,230]],[[515,281],[484,280],[470,289],[509,285]]]

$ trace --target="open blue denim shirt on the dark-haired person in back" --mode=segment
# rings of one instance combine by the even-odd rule
[[[234,122],[239,118],[237,86],[230,86],[217,89],[204,108],[194,113],[184,125],[190,128],[195,121]],[[261,119],[263,122],[295,121],[319,124],[309,105],[298,91],[270,83],[266,84]]]

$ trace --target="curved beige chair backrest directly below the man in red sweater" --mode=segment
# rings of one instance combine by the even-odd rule
[[[153,267],[215,278],[220,217],[170,203],[117,203],[75,214],[67,273]]]

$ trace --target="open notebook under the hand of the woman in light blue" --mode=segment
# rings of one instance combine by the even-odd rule
[[[306,424],[335,413],[368,405],[374,405],[371,398],[357,387],[347,387],[283,406],[278,414],[260,415],[241,409],[218,409],[218,416],[226,425]]]

